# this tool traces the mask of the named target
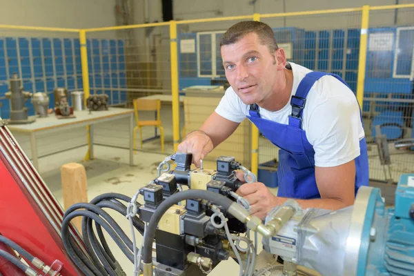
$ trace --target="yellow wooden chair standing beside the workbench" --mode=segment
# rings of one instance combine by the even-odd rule
[[[139,141],[142,148],[142,130],[144,126],[152,126],[159,128],[160,137],[161,137],[161,152],[164,152],[164,128],[162,122],[159,119],[159,112],[161,110],[161,101],[159,99],[134,99],[134,110],[135,110],[135,120],[137,121],[137,126],[134,128],[134,148],[137,145],[137,130],[139,129]],[[153,121],[139,121],[138,111],[156,111],[157,115]]]

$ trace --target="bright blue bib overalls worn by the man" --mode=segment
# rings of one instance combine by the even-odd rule
[[[279,148],[279,164],[277,178],[279,180],[279,197],[295,199],[320,198],[315,180],[315,150],[306,139],[306,132],[302,130],[302,110],[306,103],[306,96],[315,81],[324,75],[331,75],[348,86],[341,77],[324,72],[309,72],[299,83],[296,94],[292,96],[290,105],[292,114],[288,125],[279,124],[260,117],[259,106],[250,105],[247,118],[253,122]],[[361,118],[362,119],[362,118]],[[359,141],[361,154],[355,159],[355,195],[360,186],[368,186],[368,153],[365,138]],[[332,183],[335,188],[335,180]]]

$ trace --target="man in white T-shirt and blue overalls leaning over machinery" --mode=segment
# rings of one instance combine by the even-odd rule
[[[181,142],[179,152],[192,152],[198,167],[247,117],[280,148],[277,197],[262,183],[237,190],[253,215],[264,219],[288,198],[302,208],[352,205],[358,188],[368,185],[368,156],[351,89],[338,76],[286,63],[265,23],[237,23],[220,45],[230,88],[200,130]]]

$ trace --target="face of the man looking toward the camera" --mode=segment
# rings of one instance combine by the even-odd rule
[[[272,92],[278,73],[276,56],[277,51],[270,53],[254,32],[221,46],[226,78],[245,104],[260,103]]]

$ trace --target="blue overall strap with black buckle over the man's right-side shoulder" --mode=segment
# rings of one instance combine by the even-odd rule
[[[296,94],[292,96],[292,99],[290,99],[290,106],[292,106],[292,114],[289,115],[289,126],[294,126],[296,128],[300,128],[302,125],[302,110],[305,107],[306,103],[306,97],[308,96],[309,90],[311,90],[313,84],[320,79],[321,77],[324,77],[325,75],[331,75],[342,83],[344,83],[347,87],[348,84],[339,76],[331,73],[326,72],[318,72],[313,71],[306,74],[304,79],[299,83],[299,86],[297,87]]]

